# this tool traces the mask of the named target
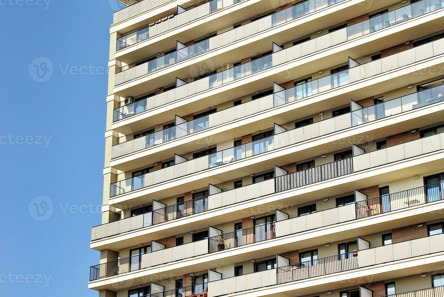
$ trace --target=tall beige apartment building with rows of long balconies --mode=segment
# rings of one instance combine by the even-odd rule
[[[444,0],[119,0],[100,297],[444,297]]]

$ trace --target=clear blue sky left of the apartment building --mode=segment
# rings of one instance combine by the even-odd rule
[[[115,0],[0,0],[1,296],[87,289]],[[39,73],[37,73],[39,70]],[[38,210],[38,212],[37,212]]]

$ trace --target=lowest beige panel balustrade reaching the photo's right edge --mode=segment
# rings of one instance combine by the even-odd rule
[[[438,252],[444,252],[444,234],[360,250],[358,266],[361,268]]]

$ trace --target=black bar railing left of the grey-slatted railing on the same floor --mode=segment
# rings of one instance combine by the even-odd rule
[[[153,210],[153,225],[199,214],[208,210],[208,196]]]

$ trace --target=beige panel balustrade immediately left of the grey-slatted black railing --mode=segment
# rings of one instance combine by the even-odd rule
[[[274,193],[274,179],[208,196],[208,210]]]

